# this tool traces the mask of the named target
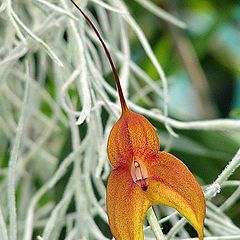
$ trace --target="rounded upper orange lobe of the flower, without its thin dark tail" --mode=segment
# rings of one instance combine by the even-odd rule
[[[141,154],[145,149],[159,150],[159,139],[153,126],[140,114],[124,112],[108,139],[108,158],[112,166],[130,165],[136,151]]]

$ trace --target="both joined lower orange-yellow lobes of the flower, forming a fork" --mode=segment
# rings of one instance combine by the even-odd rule
[[[141,157],[139,162],[144,163],[148,174],[146,190],[133,181],[127,167],[114,169],[108,180],[107,211],[115,239],[142,240],[146,211],[154,204],[163,204],[182,214],[202,240],[205,199],[192,173],[166,152],[149,152]]]

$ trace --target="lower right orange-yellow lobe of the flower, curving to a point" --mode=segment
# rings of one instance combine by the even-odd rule
[[[203,239],[205,198],[198,182],[178,158],[159,152],[148,162],[149,186],[146,195],[152,204],[175,208]]]

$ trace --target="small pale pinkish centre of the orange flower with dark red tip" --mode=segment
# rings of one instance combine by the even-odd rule
[[[149,183],[146,165],[141,161],[134,160],[131,166],[131,176],[134,183],[146,192]]]

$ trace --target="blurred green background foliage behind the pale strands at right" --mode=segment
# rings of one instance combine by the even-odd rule
[[[126,2],[168,76],[171,117],[187,121],[240,119],[240,2],[153,1],[183,20],[187,24],[186,30],[170,26],[135,1]],[[179,51],[179,46],[184,49]],[[155,69],[134,36],[131,52],[134,60],[157,80]],[[197,67],[186,58],[196,61]],[[190,71],[194,68],[192,73],[189,74],[188,68]],[[199,78],[193,79],[196,77],[194,71],[201,72],[200,83],[195,83]],[[202,88],[211,101],[209,112],[208,102],[201,99]],[[155,101],[157,104],[158,99]],[[141,100],[139,103],[148,107]],[[154,124],[159,126],[160,141],[166,146],[169,143],[167,133],[161,124]],[[179,138],[172,140],[171,152],[202,178],[202,184],[211,183],[240,147],[240,129],[234,132],[181,130],[177,133]],[[240,179],[239,169],[233,178]],[[232,189],[228,190],[224,192],[226,196],[232,192]],[[222,202],[223,199],[216,198],[215,201]],[[240,226],[240,201],[229,209],[228,214]]]

